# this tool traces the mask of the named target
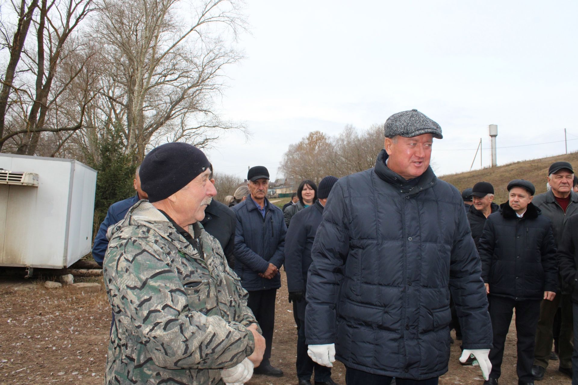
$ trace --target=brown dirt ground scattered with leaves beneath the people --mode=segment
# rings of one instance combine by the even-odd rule
[[[284,280],[284,272],[281,275]],[[25,285],[32,289],[13,291],[13,287]],[[110,329],[110,307],[104,290],[98,293],[83,293],[72,287],[47,290],[34,281],[0,278],[0,309],[0,384],[103,383]],[[297,384],[297,328],[291,310],[283,283],[277,294],[271,361],[285,375],[279,378],[255,375],[247,384]],[[449,372],[440,378],[440,384],[481,384],[479,367],[462,367],[459,356],[460,345],[454,343]],[[551,362],[544,380],[537,383],[570,384],[571,380],[557,369],[558,362]],[[517,383],[513,322],[502,373],[501,384]],[[335,363],[332,377],[339,384],[345,383],[345,369],[340,362]]]

